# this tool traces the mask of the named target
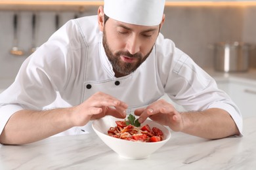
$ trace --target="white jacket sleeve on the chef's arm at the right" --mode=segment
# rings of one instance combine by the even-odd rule
[[[219,90],[211,76],[178,48],[173,47],[169,73],[165,74],[164,80],[165,93],[175,103],[186,110],[226,110],[242,133],[242,114],[237,105]]]

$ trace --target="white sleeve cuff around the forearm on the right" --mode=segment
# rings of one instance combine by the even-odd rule
[[[242,119],[242,114],[240,113],[240,110],[237,107],[234,107],[233,105],[230,105],[228,103],[213,103],[212,105],[209,106],[209,108],[219,108],[226,110],[232,119],[234,120],[236,126],[238,127],[238,130],[240,132],[239,136],[242,135],[243,131],[243,119]]]

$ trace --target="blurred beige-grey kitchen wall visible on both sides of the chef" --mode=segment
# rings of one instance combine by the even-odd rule
[[[96,14],[91,7],[79,16]],[[60,15],[60,25],[74,18],[74,12],[37,12],[37,46],[47,41],[55,31],[54,16]],[[14,11],[0,10],[0,86],[13,80],[26,56],[12,56]],[[32,47],[32,12],[22,11],[18,25],[19,46],[27,52]],[[161,30],[178,48],[186,52],[201,67],[213,67],[213,49],[209,44],[219,41],[256,42],[256,7],[166,7],[166,20]],[[256,67],[256,52],[251,54],[251,67]],[[7,82],[7,84],[9,81]],[[0,87],[1,88],[1,87]]]

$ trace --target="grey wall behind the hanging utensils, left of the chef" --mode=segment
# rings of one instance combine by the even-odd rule
[[[75,14],[87,16],[97,14],[98,7],[87,9],[86,12],[45,12],[38,11],[35,29],[35,42],[37,46],[47,41],[55,31],[54,18],[59,15],[60,26],[74,18]],[[24,56],[13,56],[10,50],[13,46],[13,16],[18,14],[18,46],[26,52]],[[14,80],[22,62],[30,56],[32,48],[32,11],[7,11],[0,10],[0,89],[9,86]]]

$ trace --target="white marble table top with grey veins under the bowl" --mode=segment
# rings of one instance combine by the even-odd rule
[[[0,169],[255,169],[256,117],[244,137],[206,140],[172,132],[168,143],[143,160],[120,158],[95,133],[50,137],[22,146],[0,145]]]

